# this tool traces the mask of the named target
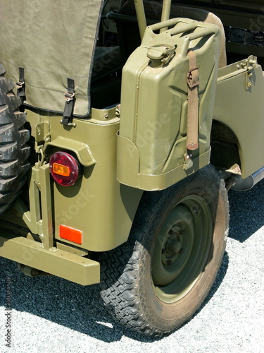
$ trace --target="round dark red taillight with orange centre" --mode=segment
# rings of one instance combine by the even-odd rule
[[[52,177],[60,185],[73,185],[79,177],[80,164],[67,152],[54,153],[49,161],[49,167]]]

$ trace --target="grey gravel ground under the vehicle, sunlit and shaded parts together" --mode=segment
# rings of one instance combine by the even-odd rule
[[[264,352],[264,181],[230,192],[230,237],[206,302],[180,330],[153,340],[115,323],[99,286],[31,279],[1,259],[0,352]],[[11,348],[5,298],[11,279]]]

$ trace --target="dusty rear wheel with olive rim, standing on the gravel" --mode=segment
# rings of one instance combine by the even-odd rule
[[[146,192],[129,240],[101,259],[101,297],[125,326],[150,336],[179,328],[199,309],[228,233],[225,183],[211,166]]]

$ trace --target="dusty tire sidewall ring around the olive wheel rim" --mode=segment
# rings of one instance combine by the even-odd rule
[[[201,306],[210,287],[213,285],[225,251],[228,227],[228,210],[226,191],[215,172],[208,173],[203,169],[175,186],[161,191],[161,201],[149,222],[149,229],[144,234],[143,249],[139,265],[139,297],[145,321],[157,328],[172,330],[179,327]],[[194,287],[172,304],[166,304],[156,297],[151,280],[151,256],[158,241],[158,234],[164,220],[182,198],[199,195],[208,203],[213,217],[213,237],[210,253],[203,273]]]

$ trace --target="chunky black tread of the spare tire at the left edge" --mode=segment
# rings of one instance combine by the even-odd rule
[[[15,85],[4,77],[0,65],[0,213],[3,213],[20,193],[30,168],[26,145],[30,132],[24,128],[25,113],[19,111],[20,98],[13,93]]]

